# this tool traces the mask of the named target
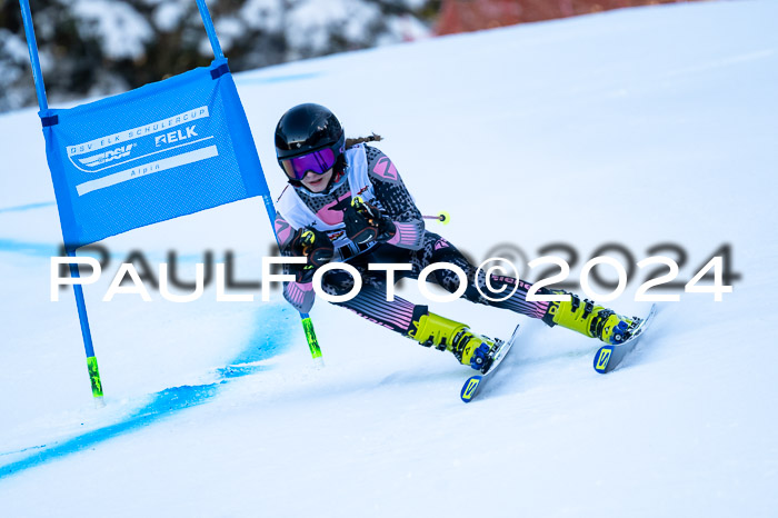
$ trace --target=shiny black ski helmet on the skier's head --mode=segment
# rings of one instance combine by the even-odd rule
[[[325,148],[332,148],[340,158],[345,142],[346,133],[335,113],[312,102],[290,108],[276,126],[276,157],[279,166],[281,160]]]

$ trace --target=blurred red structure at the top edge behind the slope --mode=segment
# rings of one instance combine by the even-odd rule
[[[436,34],[551,20],[624,7],[687,0],[442,0]]]

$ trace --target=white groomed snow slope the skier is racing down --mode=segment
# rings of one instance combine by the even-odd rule
[[[49,301],[60,235],[39,121],[0,117],[0,516],[778,515],[775,20],[769,0],[619,10],[237,77],[276,193],[275,123],[316,101],[349,135],[383,135],[419,207],[452,216],[429,228],[478,260],[565,242],[575,278],[602,243],[640,260],[675,242],[686,281],[730,245],[734,292],[679,290],[608,376],[594,340],[431,305],[495,336],[522,323],[467,406],[450,355],[321,301],[322,370],[278,292],[101,302],[134,249],[153,268],[178,251],[187,279],[231,250],[258,280],[272,237],[255,199],[106,240],[86,289],[108,404],[93,409],[72,296]],[[609,305],[645,311],[642,277]]]

